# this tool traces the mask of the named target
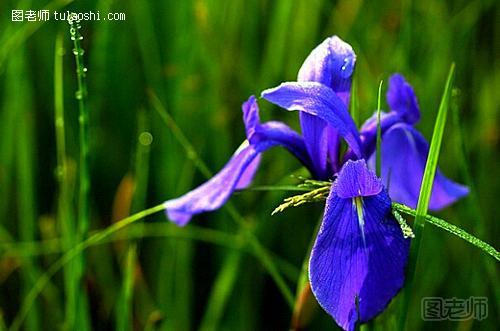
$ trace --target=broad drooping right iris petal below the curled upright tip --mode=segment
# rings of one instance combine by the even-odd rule
[[[382,136],[382,180],[392,200],[415,208],[420,193],[429,144],[408,124],[396,124]],[[369,159],[375,167],[375,155]],[[466,186],[446,178],[438,169],[429,209],[439,210],[468,194]]]

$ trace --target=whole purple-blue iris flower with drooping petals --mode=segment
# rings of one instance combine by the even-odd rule
[[[165,202],[168,218],[178,225],[218,209],[250,184],[260,153],[275,146],[288,149],[314,178],[334,180],[309,279],[319,304],[345,330],[379,314],[403,285],[409,239],[391,214],[389,196],[415,206],[429,149],[413,127],[420,117],[413,89],[394,75],[387,93],[391,111],[381,116],[382,179],[375,176],[376,118],[359,132],[348,112],[355,62],[350,45],[327,38],[307,57],[297,82],[262,93],[284,109],[300,111],[302,136],[280,122],[261,123],[252,96],[243,104],[247,139],[226,166],[195,190]],[[342,139],[348,145],[343,157]],[[430,206],[445,207],[465,194],[466,187],[439,172]]]

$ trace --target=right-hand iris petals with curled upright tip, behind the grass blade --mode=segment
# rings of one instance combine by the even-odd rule
[[[392,200],[415,208],[429,144],[413,127],[420,119],[420,111],[413,88],[403,76],[390,77],[387,103],[391,111],[381,113],[380,117],[382,180]],[[363,153],[372,169],[375,168],[376,132],[377,114],[373,114],[361,127]],[[438,169],[429,208],[442,209],[468,193],[466,186],[449,180]]]

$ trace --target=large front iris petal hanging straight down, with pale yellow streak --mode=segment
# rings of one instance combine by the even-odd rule
[[[358,176],[362,180],[348,184]],[[369,195],[338,195],[345,191],[350,196],[352,188]],[[344,330],[354,330],[356,323],[382,312],[404,281],[409,240],[391,215],[387,192],[372,195],[378,188],[380,181],[364,160],[348,161],[327,199],[311,252],[312,291]]]

